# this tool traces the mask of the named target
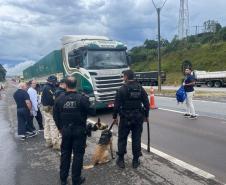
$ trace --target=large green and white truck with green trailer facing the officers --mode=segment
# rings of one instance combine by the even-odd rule
[[[116,90],[123,84],[122,72],[129,69],[127,47],[103,36],[67,35],[62,48],[23,71],[25,80],[45,83],[49,75],[77,79],[77,90],[89,95],[96,109],[113,107]]]

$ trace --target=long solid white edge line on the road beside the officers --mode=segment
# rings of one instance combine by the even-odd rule
[[[176,112],[178,113],[179,111],[176,111]],[[87,121],[92,123],[92,124],[96,123],[96,121],[94,121],[92,119],[88,119]],[[131,138],[128,138],[128,141],[132,142]],[[144,150],[147,149],[147,145],[144,144],[144,143],[141,143],[141,147]],[[177,159],[177,158],[175,158],[173,156],[170,156],[170,155],[168,155],[168,154],[166,154],[164,152],[161,152],[161,151],[159,151],[159,150],[157,150],[155,148],[150,147],[150,151],[152,153],[154,153],[154,154],[156,154],[156,155],[158,155],[158,156],[160,156],[160,157],[162,157],[162,158],[164,158],[164,159],[166,159],[166,160],[168,160],[168,161],[170,161],[170,162],[172,162],[172,163],[174,163],[174,164],[176,164],[176,165],[178,165],[178,166],[180,166],[180,167],[182,167],[184,169],[187,169],[187,170],[189,170],[189,171],[191,171],[191,172],[193,172],[193,173],[195,173],[197,175],[200,175],[200,176],[202,176],[202,177],[204,177],[206,179],[214,179],[215,178],[214,175],[212,175],[212,174],[210,174],[210,173],[208,173],[208,172],[206,172],[204,170],[201,170],[201,169],[199,169],[199,168],[197,168],[195,166],[192,166],[192,165],[190,165],[190,164],[188,164],[188,163],[186,163],[184,161],[181,161],[180,159]]]

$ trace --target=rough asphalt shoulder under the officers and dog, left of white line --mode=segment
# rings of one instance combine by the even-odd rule
[[[0,185],[59,185],[59,154],[45,147],[43,133],[26,141],[19,141],[16,133],[16,106],[12,99],[14,87],[9,87],[0,100]],[[110,112],[101,115],[109,120]],[[96,118],[95,118],[96,119]],[[105,120],[106,121],[106,120]],[[37,126],[37,125],[36,125]],[[100,131],[87,140],[84,164],[91,163]],[[145,137],[145,135],[144,135]],[[3,141],[3,142],[2,142]],[[113,148],[117,138],[113,136]],[[138,170],[131,167],[131,145],[128,145],[126,169],[119,170],[115,161],[83,170],[87,185],[221,185],[215,179],[196,175],[164,158],[143,151]],[[116,155],[116,154],[115,154]],[[70,179],[70,177],[69,177]],[[85,185],[84,184],[84,185]]]

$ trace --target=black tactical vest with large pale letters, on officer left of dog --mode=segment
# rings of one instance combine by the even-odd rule
[[[83,126],[80,96],[75,93],[66,95],[62,102],[62,112],[60,114],[64,125]]]

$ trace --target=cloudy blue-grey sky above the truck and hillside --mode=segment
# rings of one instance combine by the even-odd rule
[[[161,12],[169,40],[178,32],[179,2],[168,0]],[[209,19],[226,26],[226,0],[189,0],[189,11],[191,33]],[[105,35],[131,48],[156,39],[156,11],[151,0],[0,0],[0,63],[9,73],[59,49],[68,34]]]

